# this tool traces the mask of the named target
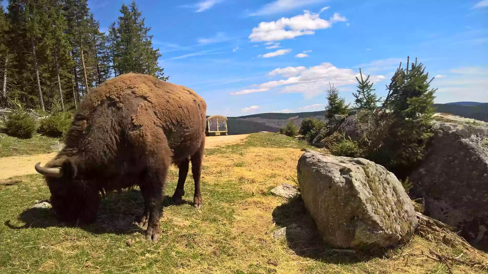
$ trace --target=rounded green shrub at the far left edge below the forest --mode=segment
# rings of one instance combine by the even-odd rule
[[[27,112],[18,109],[7,115],[3,131],[12,137],[28,139],[36,130],[36,122]]]

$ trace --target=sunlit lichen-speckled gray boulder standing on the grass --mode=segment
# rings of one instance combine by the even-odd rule
[[[418,220],[412,202],[383,166],[307,150],[297,170],[305,207],[326,244],[390,247],[413,235]]]

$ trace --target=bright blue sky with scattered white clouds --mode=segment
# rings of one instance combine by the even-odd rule
[[[88,3],[102,31],[120,16],[120,0]],[[136,3],[169,81],[208,115],[323,110],[329,82],[350,102],[359,68],[385,96],[407,55],[436,76],[436,103],[488,102],[488,0]]]

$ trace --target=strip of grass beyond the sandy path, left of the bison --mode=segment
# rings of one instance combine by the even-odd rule
[[[56,144],[58,139],[42,135],[24,140],[0,133],[0,157],[49,153]]]

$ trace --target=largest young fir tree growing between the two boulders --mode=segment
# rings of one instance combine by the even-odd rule
[[[431,106],[436,91],[429,87],[433,78],[428,80],[422,63],[415,60],[409,64],[407,60],[407,67],[401,66],[400,63],[387,86],[382,108],[389,111],[382,114],[384,126],[375,130],[375,144],[369,144],[366,156],[397,174],[408,171],[423,158],[425,141],[431,136],[429,128],[434,114]]]

